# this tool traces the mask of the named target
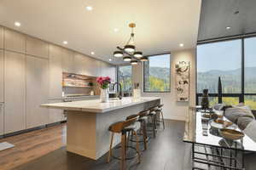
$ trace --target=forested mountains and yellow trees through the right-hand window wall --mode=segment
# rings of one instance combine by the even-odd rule
[[[245,68],[245,93],[256,94],[256,67]],[[230,71],[206,71],[197,73],[197,93],[207,88],[209,93],[218,93],[218,77],[221,77],[223,93],[241,94],[241,69]],[[211,104],[218,103],[217,98],[211,98]],[[238,98],[224,98],[224,103],[237,105]],[[245,103],[256,109],[256,96],[245,96]]]

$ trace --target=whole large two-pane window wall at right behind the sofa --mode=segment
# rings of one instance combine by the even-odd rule
[[[223,102],[245,102],[256,110],[256,37],[197,46],[197,104],[202,90],[209,89],[212,105],[218,103],[218,77],[221,77]]]

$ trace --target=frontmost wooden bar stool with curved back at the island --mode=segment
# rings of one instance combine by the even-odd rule
[[[110,161],[110,158],[113,157],[115,159],[119,159],[121,160],[121,169],[125,169],[125,161],[128,159],[132,159],[132,158],[126,158],[126,150],[127,148],[131,148],[136,150],[137,152],[137,158],[138,158],[138,163],[141,162],[141,155],[140,155],[140,150],[139,150],[139,143],[138,143],[138,139],[137,139],[137,124],[136,122],[138,121],[139,116],[133,117],[129,120],[123,121],[123,122],[115,122],[113,123],[108,130],[110,132],[112,132],[111,135],[111,141],[110,141],[110,146],[109,146],[109,151],[108,151],[108,162]],[[133,135],[135,135],[136,137],[136,141],[137,141],[137,146],[136,149],[131,147],[131,146],[127,146],[127,133],[132,133]],[[113,134],[114,133],[121,133],[121,157],[115,157],[112,155],[112,146],[113,146]]]

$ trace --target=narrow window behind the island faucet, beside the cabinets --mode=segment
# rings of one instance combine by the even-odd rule
[[[120,65],[118,67],[118,81],[121,83],[124,94],[131,94],[131,65]]]

